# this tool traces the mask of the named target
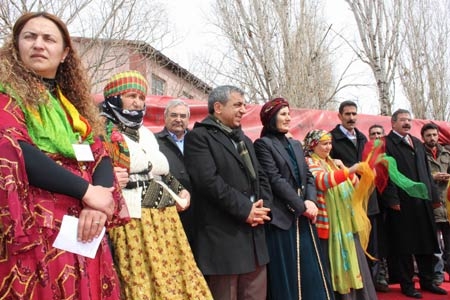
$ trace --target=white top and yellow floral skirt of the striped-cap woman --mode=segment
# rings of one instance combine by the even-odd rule
[[[121,134],[115,131],[116,134]],[[139,128],[139,142],[123,135],[110,143],[116,149],[128,149],[130,178],[148,173],[149,178],[167,177],[169,164],[159,151],[153,133]],[[123,144],[126,144],[123,145]],[[110,147],[108,147],[110,148]],[[113,155],[114,164],[127,161]],[[149,170],[151,165],[151,171]],[[166,181],[178,193],[175,178]],[[206,281],[196,265],[175,206],[142,207],[141,186],[123,189],[123,195],[134,217],[129,224],[110,233],[124,299],[212,299]],[[148,193],[148,192],[147,192]],[[159,197],[158,193],[152,193]],[[137,206],[137,207],[136,207]],[[134,208],[131,208],[134,207]],[[139,213],[138,213],[139,211]]]

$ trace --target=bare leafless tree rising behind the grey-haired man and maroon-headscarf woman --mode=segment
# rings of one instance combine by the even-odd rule
[[[337,87],[320,1],[215,4],[215,24],[230,45],[218,69],[222,78],[245,88],[253,102],[283,96],[293,106],[331,108]]]

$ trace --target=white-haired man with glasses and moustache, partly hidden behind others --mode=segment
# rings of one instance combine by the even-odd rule
[[[188,132],[189,117],[189,106],[183,100],[170,100],[164,110],[164,128],[155,134],[155,137],[158,140],[159,150],[169,161],[170,173],[191,193],[191,181],[183,158],[184,136]],[[195,203],[191,201],[188,209],[179,212],[191,247],[195,231],[194,207]]]

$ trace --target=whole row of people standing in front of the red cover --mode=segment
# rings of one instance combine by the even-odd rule
[[[59,18],[16,21],[0,48],[0,299],[373,300],[391,283],[447,294],[450,152],[435,124],[422,142],[399,109],[367,139],[344,101],[340,124],[299,141],[275,98],[253,142],[244,91],[223,85],[191,129],[189,106],[168,102],[154,134],[143,74],[103,90],[99,111]],[[66,216],[76,242],[99,243],[93,257],[55,246]]]

